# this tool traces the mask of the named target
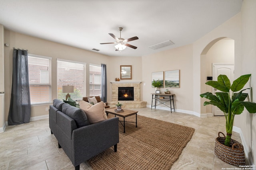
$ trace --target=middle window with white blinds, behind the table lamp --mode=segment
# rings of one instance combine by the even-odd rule
[[[57,98],[62,100],[66,94],[62,93],[62,86],[74,86],[74,93],[70,93],[73,100],[82,100],[86,96],[86,63],[57,59]]]

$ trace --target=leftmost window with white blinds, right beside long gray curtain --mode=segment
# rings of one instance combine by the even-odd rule
[[[52,58],[28,54],[28,76],[31,104],[51,102]]]

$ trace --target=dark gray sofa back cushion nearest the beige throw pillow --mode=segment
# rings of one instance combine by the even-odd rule
[[[71,106],[69,104],[63,104],[62,112],[74,119],[78,128],[90,125],[90,122],[88,121],[88,118],[82,109]]]

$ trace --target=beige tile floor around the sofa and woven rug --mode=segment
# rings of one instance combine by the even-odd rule
[[[139,115],[195,129],[192,139],[174,162],[171,170],[221,170],[236,167],[214,155],[215,138],[219,131],[225,132],[224,117],[200,118],[150,108],[136,110],[139,111]],[[50,133],[48,122],[48,119],[42,119],[6,127],[5,132],[0,133],[0,170],[74,170],[64,151],[58,149],[58,142]],[[241,142],[238,133],[233,132],[232,139]],[[84,162],[80,164],[80,170],[92,168]]]

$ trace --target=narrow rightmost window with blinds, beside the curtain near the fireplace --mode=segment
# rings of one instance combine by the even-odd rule
[[[101,66],[90,64],[90,96],[101,97]]]

